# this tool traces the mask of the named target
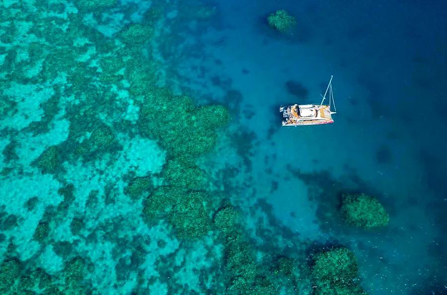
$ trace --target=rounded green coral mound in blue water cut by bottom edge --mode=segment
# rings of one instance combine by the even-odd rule
[[[311,267],[315,295],[366,294],[358,285],[358,266],[354,254],[345,247],[317,253]]]

